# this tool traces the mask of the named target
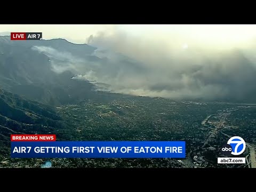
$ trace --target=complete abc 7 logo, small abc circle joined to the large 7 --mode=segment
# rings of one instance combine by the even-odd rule
[[[225,156],[231,155],[241,155],[244,153],[246,147],[245,141],[238,136],[231,137],[227,144],[221,147],[221,153]]]

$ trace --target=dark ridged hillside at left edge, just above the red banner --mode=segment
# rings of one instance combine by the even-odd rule
[[[37,133],[72,139],[55,109],[0,89],[0,161],[10,157],[10,134]]]

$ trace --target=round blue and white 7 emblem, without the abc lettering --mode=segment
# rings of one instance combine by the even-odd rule
[[[232,155],[241,155],[244,153],[246,144],[243,138],[238,136],[231,137],[227,143],[232,147]]]

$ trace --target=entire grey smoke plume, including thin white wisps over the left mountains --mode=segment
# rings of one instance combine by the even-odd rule
[[[252,101],[256,93],[253,46],[197,46],[173,44],[125,33],[99,33],[88,42],[98,47],[97,61],[74,57],[49,47],[37,47],[54,58],[55,72],[71,70],[74,78],[86,79],[116,93],[150,97],[201,100]],[[255,47],[255,46],[254,46]],[[221,48],[221,47],[220,47]]]

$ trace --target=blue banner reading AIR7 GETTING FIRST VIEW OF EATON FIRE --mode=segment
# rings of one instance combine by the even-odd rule
[[[185,141],[14,141],[12,158],[185,158]]]

